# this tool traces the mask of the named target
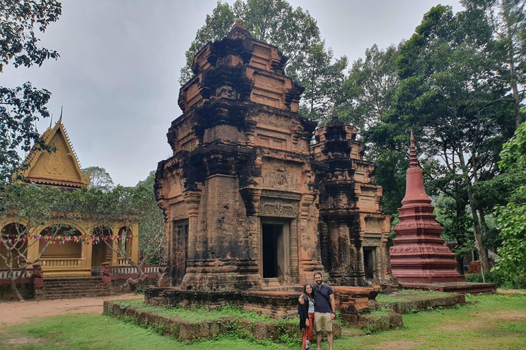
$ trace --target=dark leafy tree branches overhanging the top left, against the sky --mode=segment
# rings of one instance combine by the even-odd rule
[[[44,32],[58,20],[61,5],[55,0],[4,0],[0,2],[0,74],[12,64],[42,66],[58,53],[38,46],[35,31]],[[0,182],[9,182],[21,166],[18,151],[32,147],[51,150],[36,131],[35,122],[49,117],[51,93],[37,90],[29,81],[19,87],[0,86]]]

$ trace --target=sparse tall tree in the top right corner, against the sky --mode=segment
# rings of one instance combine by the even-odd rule
[[[495,40],[497,75],[511,90],[515,127],[521,125],[520,109],[526,97],[526,0],[462,0],[468,10],[481,9]],[[508,97],[508,96],[507,96]]]

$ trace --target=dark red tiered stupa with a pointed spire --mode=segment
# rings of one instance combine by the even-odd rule
[[[409,169],[405,173],[405,197],[399,208],[397,238],[390,248],[392,274],[400,282],[462,282],[455,254],[440,238],[442,226],[433,214],[434,206],[424,189],[422,169],[418,165],[413,131],[409,148]]]

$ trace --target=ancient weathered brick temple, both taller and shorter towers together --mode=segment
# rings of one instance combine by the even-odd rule
[[[167,134],[173,157],[156,174],[166,215],[160,286],[297,286],[314,271],[334,284],[397,283],[389,217],[356,129],[333,118],[314,133],[285,64],[239,24],[195,55],[184,113]]]

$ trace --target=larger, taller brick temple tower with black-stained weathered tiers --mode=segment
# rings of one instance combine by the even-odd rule
[[[181,288],[299,284],[322,269],[303,88],[286,57],[236,24],[195,56],[157,172],[166,213],[161,283]],[[301,242],[301,246],[299,243]]]

